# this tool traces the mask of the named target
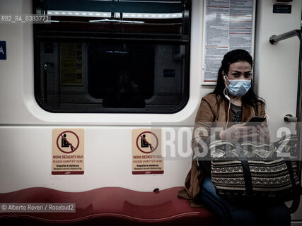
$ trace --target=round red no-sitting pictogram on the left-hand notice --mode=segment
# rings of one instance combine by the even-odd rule
[[[79,148],[79,136],[74,131],[63,131],[57,137],[57,148],[62,153],[74,153]]]

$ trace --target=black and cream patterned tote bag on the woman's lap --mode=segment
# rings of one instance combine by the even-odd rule
[[[294,135],[276,143],[210,143],[211,179],[216,194],[240,199],[292,200],[301,194],[298,162],[292,160],[296,147]]]

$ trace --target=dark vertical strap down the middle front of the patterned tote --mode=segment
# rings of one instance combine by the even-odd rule
[[[241,147],[240,143],[235,143],[236,151],[239,155],[239,160],[243,167],[243,177],[245,182],[245,191],[248,195],[252,194],[252,175],[250,174],[250,165],[248,164],[248,159],[243,153],[243,148]]]

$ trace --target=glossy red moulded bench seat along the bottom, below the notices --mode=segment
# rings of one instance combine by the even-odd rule
[[[178,198],[182,187],[157,192],[104,187],[83,192],[29,188],[0,194],[0,203],[76,203],[75,213],[0,213],[1,222],[37,225],[215,225],[206,208]],[[0,207],[1,208],[1,207]]]

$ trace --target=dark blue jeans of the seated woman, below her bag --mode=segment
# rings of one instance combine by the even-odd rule
[[[216,195],[211,178],[206,177],[199,196],[200,202],[229,226],[290,226],[291,215],[283,202],[234,203]]]

